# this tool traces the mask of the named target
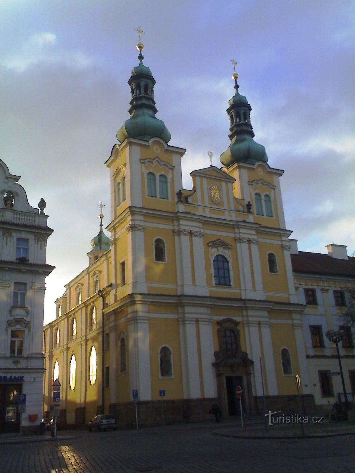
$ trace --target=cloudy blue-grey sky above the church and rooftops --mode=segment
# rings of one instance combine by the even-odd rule
[[[355,251],[354,1],[0,0],[0,26],[0,158],[54,229],[44,323],[89,263],[100,201],[109,224],[104,163],[129,117],[138,26],[184,188],[208,150],[222,166],[235,58],[299,250]]]

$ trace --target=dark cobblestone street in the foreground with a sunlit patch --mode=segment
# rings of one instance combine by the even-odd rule
[[[171,426],[0,445],[1,473],[354,473],[355,436],[241,439]],[[59,434],[60,435],[60,434]]]

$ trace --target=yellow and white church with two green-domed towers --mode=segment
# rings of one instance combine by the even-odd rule
[[[71,425],[102,412],[132,425],[134,402],[144,425],[161,422],[162,401],[171,422],[208,418],[216,401],[225,417],[238,415],[237,386],[244,412],[263,412],[263,393],[267,409],[285,412],[298,406],[295,375],[313,409],[284,171],[254,140],[238,74],[221,168],[192,170],[192,189],[184,189],[186,150],[169,145],[141,42],[137,49],[130,117],[105,163],[109,236],[101,213],[88,266],[66,284],[44,327],[44,412],[53,409],[56,379],[56,407]]]

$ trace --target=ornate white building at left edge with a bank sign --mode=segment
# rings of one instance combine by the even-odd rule
[[[37,429],[43,402],[43,312],[46,264],[45,202],[31,207],[20,176],[0,160],[0,433]],[[24,408],[22,408],[24,409]]]

